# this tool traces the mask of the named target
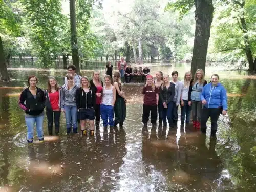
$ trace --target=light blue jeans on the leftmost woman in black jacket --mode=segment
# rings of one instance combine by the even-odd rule
[[[25,122],[28,128],[27,139],[33,141],[34,125],[36,124],[36,131],[38,139],[44,138],[44,131],[42,130],[42,123],[44,122],[44,115],[25,117]]]

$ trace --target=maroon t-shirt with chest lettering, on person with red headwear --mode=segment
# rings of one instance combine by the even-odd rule
[[[158,87],[155,86],[155,90],[153,91],[151,86],[144,86],[142,91],[142,94],[145,94],[144,105],[157,105],[157,93],[159,94]]]

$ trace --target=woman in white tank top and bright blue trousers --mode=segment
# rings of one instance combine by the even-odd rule
[[[106,75],[104,77],[105,85],[103,86],[103,95],[100,104],[100,115],[103,120],[104,132],[108,130],[108,124],[110,125],[111,131],[114,128],[114,106],[116,102],[116,88],[112,86],[110,80],[111,78],[109,75]]]

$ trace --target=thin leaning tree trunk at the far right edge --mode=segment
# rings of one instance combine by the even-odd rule
[[[250,41],[249,41],[249,37],[247,35],[247,26],[246,26],[246,22],[245,22],[245,18],[244,18],[244,5],[245,5],[245,0],[242,1],[242,3],[238,4],[241,6],[242,8],[242,12],[241,12],[241,17],[240,17],[240,21],[241,21],[241,25],[242,25],[242,31],[244,33],[244,44],[245,44],[245,53],[246,53],[246,57],[249,63],[249,71],[254,71],[255,70],[255,66],[253,63],[253,57],[252,57],[252,52],[251,52],[251,45],[250,45]]]

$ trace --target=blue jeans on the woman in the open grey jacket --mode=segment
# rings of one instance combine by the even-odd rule
[[[76,106],[64,105],[67,133],[71,133],[71,127],[73,127],[73,133],[77,133],[77,109]]]

